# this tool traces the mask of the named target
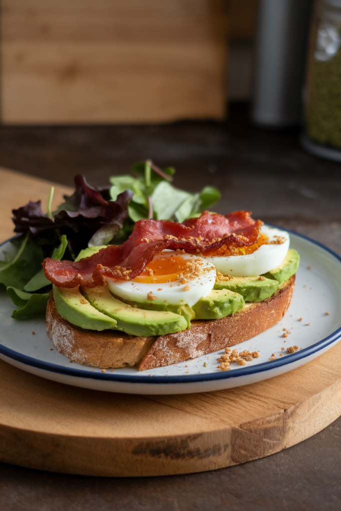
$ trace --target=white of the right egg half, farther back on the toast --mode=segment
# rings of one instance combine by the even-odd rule
[[[209,255],[204,259],[211,262],[223,275],[251,277],[261,275],[276,268],[284,260],[290,245],[289,234],[281,229],[263,225],[260,232],[266,235],[269,242],[278,236],[283,239],[281,244],[261,245],[251,254],[216,256]]]

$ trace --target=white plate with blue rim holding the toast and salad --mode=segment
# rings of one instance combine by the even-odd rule
[[[341,258],[301,235],[291,233],[290,239],[291,248],[301,255],[292,303],[275,327],[237,344],[238,351],[261,353],[258,359],[243,367],[231,364],[230,371],[220,371],[217,358],[223,351],[143,373],[135,368],[107,369],[102,373],[101,369],[71,364],[55,349],[51,351],[43,317],[29,321],[11,319],[15,307],[5,293],[0,294],[0,358],[49,380],[134,394],[207,392],[286,373],[326,352],[341,337]],[[7,243],[0,246],[0,250]],[[287,338],[283,338],[284,328],[291,332]],[[298,345],[299,351],[288,354],[287,347],[293,345]],[[278,358],[269,361],[272,353]]]

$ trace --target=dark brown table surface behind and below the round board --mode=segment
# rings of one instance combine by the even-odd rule
[[[296,230],[341,255],[341,165],[307,154],[299,132],[248,123],[247,105],[228,121],[148,126],[0,127],[0,165],[63,184],[84,174],[93,185],[151,158],[173,165],[175,185],[216,185],[218,213]],[[341,373],[341,368],[340,368]],[[213,472],[167,477],[99,478],[0,463],[4,511],[255,511],[341,509],[341,417],[278,454]]]

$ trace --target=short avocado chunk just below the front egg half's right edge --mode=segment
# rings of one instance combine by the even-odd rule
[[[239,311],[244,303],[241,294],[229,289],[213,289],[207,296],[200,298],[192,309],[195,319],[220,319]]]

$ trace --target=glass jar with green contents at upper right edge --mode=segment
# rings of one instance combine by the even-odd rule
[[[313,154],[341,161],[341,0],[315,4],[302,144]]]

